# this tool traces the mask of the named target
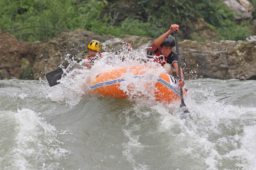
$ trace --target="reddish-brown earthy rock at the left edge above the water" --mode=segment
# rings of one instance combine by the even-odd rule
[[[38,51],[38,45],[18,41],[9,33],[1,33],[0,29],[0,79],[32,79],[32,66]]]

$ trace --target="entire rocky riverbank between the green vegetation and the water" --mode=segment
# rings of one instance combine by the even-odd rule
[[[81,56],[90,40],[103,43],[105,51],[116,51],[127,43],[133,49],[145,48],[153,38],[139,36],[100,36],[82,29],[63,32],[45,43],[18,41],[0,31],[0,79],[38,79],[55,70],[69,54]],[[175,51],[175,49],[174,49]],[[256,41],[179,42],[181,67],[185,78],[256,79]]]

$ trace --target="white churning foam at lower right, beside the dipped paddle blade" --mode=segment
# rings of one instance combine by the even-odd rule
[[[174,131],[177,126],[180,126],[184,131],[182,134],[186,136],[186,139],[180,139],[180,141],[190,139],[189,145],[192,145],[191,148],[196,150],[197,154],[207,153],[200,157],[205,158],[208,169],[220,169],[223,165],[234,169],[237,167],[254,169],[256,159],[252,155],[256,152],[249,148],[255,145],[253,139],[255,133],[252,133],[252,129],[255,127],[256,108],[227,105],[224,101],[218,102],[214,95],[215,90],[211,87],[193,92],[196,95],[191,95],[186,104],[189,111],[196,114],[197,118],[188,122],[178,120],[175,123],[172,115],[168,115],[162,122],[164,127]],[[252,138],[248,138],[248,133]],[[201,150],[197,146],[204,149]],[[246,157],[242,156],[245,152]],[[196,153],[191,152],[191,156],[193,157]]]

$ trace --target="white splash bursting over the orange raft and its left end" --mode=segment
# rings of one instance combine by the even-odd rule
[[[90,70],[83,65],[83,62],[70,62],[67,56],[66,60],[69,61],[69,66],[67,69],[63,69],[64,74],[59,80],[60,85],[51,87],[47,92],[47,97],[57,102],[65,100],[70,107],[75,106],[85,95],[90,95],[92,93],[89,86],[92,85],[91,80],[93,78],[96,78],[100,73],[111,70],[115,67],[126,67],[127,73],[121,77],[124,78],[125,81],[120,83],[120,88],[129,94],[130,100],[133,100],[134,96],[146,96],[148,98],[152,98],[154,96],[153,86],[156,83],[156,78],[166,71],[157,63],[143,62],[146,60],[146,56],[141,54],[141,51],[132,51],[129,54],[121,53],[120,56],[126,57],[126,60],[122,62],[118,56],[113,55],[113,53],[105,52],[104,55],[100,57],[99,61],[94,63]],[[129,73],[129,68],[142,64],[157,69],[145,70],[146,72],[143,74],[145,75],[144,79],[132,78],[134,77],[134,74]],[[143,71],[143,69],[141,71]],[[149,75],[154,75],[155,78],[147,78]],[[130,89],[127,89],[127,86],[130,84],[133,84],[134,89],[136,90],[131,91]],[[152,101],[153,100],[155,100],[155,98],[152,99]]]

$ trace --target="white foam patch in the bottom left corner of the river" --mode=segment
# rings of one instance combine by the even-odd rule
[[[70,132],[57,131],[54,126],[47,124],[40,114],[30,109],[18,109],[15,113],[1,112],[0,115],[16,120],[15,123],[8,121],[16,135],[13,140],[6,139],[12,141],[12,147],[8,144],[3,146],[9,148],[9,151],[2,157],[4,165],[1,167],[6,169],[58,169],[61,167],[61,160],[66,159],[70,151],[61,148],[64,143],[58,140],[58,136]],[[13,131],[6,133],[13,134]]]

